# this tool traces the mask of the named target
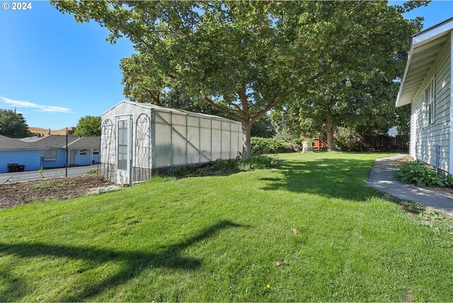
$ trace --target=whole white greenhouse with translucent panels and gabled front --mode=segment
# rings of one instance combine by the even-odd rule
[[[146,181],[154,171],[234,159],[241,123],[214,115],[122,101],[102,115],[101,173],[109,181]]]

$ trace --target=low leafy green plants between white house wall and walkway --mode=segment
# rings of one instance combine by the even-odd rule
[[[396,172],[396,177],[404,183],[416,184],[418,186],[445,186],[444,178],[442,178],[434,168],[418,162],[411,162],[400,166],[399,170]],[[450,183],[451,178],[448,180]]]

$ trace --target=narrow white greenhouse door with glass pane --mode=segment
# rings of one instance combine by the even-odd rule
[[[130,184],[131,123],[129,116],[118,117],[117,122],[116,183]]]

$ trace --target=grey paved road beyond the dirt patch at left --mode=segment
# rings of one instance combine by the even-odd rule
[[[96,165],[89,166],[76,166],[68,168],[68,176],[81,176],[84,175],[87,171],[91,169],[96,169]],[[99,166],[101,167],[101,166]],[[44,171],[44,178],[57,178],[64,177],[64,168],[47,168]],[[40,174],[38,171],[21,171],[19,173],[0,173],[0,184],[3,184],[4,181],[8,183],[22,182],[22,181],[32,181],[40,179]]]

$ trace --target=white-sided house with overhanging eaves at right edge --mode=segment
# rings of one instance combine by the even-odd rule
[[[453,18],[413,35],[396,106],[411,105],[409,152],[453,173]]]

